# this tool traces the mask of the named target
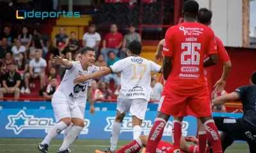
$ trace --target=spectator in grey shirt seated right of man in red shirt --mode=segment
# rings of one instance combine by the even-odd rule
[[[140,34],[136,33],[135,30],[136,30],[135,27],[131,25],[129,27],[129,33],[125,34],[124,36],[123,47],[120,52],[121,59],[124,59],[126,57],[126,46],[128,43],[130,43],[132,40],[141,41]]]

